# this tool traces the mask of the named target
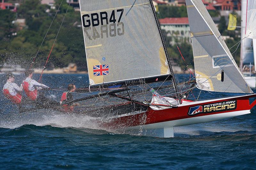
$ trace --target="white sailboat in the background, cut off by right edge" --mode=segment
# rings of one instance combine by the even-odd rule
[[[249,4],[248,4],[249,3]],[[246,29],[255,29],[255,1],[242,1],[242,19],[241,19],[241,57],[240,57],[240,70],[244,74],[247,84],[256,87],[256,39],[252,39],[245,35]],[[254,12],[248,12],[253,11]],[[254,20],[253,20],[254,18]],[[253,67],[254,66],[254,67]]]

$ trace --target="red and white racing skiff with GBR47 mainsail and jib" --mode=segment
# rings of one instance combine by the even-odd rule
[[[90,106],[100,105],[102,110],[90,113],[104,112],[102,127],[157,129],[162,132],[159,137],[173,137],[174,127],[249,114],[256,104],[249,102],[256,94],[201,0],[186,0],[196,72],[196,85],[187,89],[173,74],[152,0],[80,0],[79,4],[89,89],[104,91],[86,99],[93,99]],[[186,100],[184,93],[196,87],[244,95]]]

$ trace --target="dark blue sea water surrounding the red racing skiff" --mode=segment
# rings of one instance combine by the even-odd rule
[[[16,76],[15,81],[21,83],[22,78]],[[58,88],[75,82],[79,88],[87,83],[88,75],[45,74],[43,80],[46,85]],[[0,82],[3,81],[4,75],[0,75]],[[3,84],[0,85],[2,88]],[[59,95],[49,94],[56,99]],[[194,95],[197,97],[198,91]],[[203,93],[202,97],[206,96],[218,97],[216,93]],[[255,108],[248,115],[177,127],[174,138],[156,138],[108,132],[99,129],[93,118],[87,116],[19,114],[2,96],[0,107],[0,169],[255,169],[256,166]]]

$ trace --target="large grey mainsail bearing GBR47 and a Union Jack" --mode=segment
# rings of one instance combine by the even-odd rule
[[[80,0],[90,85],[169,75],[149,0]]]

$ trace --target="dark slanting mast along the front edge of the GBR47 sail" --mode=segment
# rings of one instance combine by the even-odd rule
[[[165,42],[164,42],[164,37],[163,37],[162,31],[161,31],[161,28],[160,28],[160,25],[159,25],[159,21],[158,21],[157,16],[156,16],[155,7],[153,5],[152,0],[149,0],[149,2],[150,2],[150,5],[151,5],[151,8],[153,10],[154,17],[155,17],[155,20],[156,20],[156,25],[157,25],[157,28],[158,28],[158,32],[160,34],[161,41],[162,41],[162,44],[163,44],[163,47],[164,47],[164,53],[165,53],[165,56],[166,56],[166,59],[167,59],[167,63],[168,63],[169,69],[170,69],[170,75],[172,77],[172,85],[173,85],[174,90],[175,90],[175,92],[177,94],[176,97],[178,99],[178,102],[179,102],[179,104],[181,104],[180,93],[178,91],[177,83],[176,83],[176,80],[175,80],[175,77],[174,77],[174,74],[173,74],[171,61],[170,61],[170,58],[169,58],[169,55],[168,55],[168,52],[167,52],[167,49],[166,49],[166,46],[165,46]]]

